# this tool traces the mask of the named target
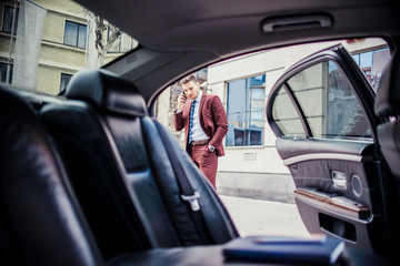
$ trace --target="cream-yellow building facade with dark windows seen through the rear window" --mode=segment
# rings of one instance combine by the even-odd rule
[[[20,13],[22,1],[6,0],[0,3],[0,80],[11,83],[11,85],[13,84],[12,69],[14,66],[16,41],[19,32],[18,22],[23,17]],[[36,84],[30,84],[28,89],[57,95],[62,93],[73,73],[91,68],[91,65],[88,65],[88,54],[91,50],[94,50],[94,44],[90,43],[89,40],[90,13],[83,7],[69,0],[33,0],[28,3],[29,6],[24,7],[28,23],[29,16],[36,16],[36,9],[44,10],[46,13],[41,37],[39,37],[39,60],[38,62],[29,62],[32,63],[29,66],[30,69],[37,68],[37,81]],[[16,19],[13,20],[13,18]],[[11,34],[13,22],[14,34]],[[104,24],[103,35],[108,38],[109,25],[107,21]],[[23,29],[20,28],[20,30]],[[29,43],[30,37],[27,38],[28,45],[33,45],[33,43]],[[108,50],[104,63],[137,45],[136,40],[121,32]]]

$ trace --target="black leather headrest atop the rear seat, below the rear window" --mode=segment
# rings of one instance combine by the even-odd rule
[[[89,101],[111,113],[146,116],[144,99],[128,80],[107,70],[83,70],[76,73],[68,83],[68,99]]]

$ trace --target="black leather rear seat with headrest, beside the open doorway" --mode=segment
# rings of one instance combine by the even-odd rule
[[[151,247],[221,244],[238,236],[213,188],[174,136],[148,116],[131,82],[87,70],[72,76],[66,96],[63,104],[44,106],[41,119],[62,151],[106,258]],[[171,152],[179,160],[171,160]],[[178,166],[200,194],[201,212],[182,201]]]

